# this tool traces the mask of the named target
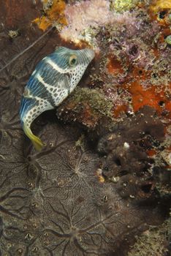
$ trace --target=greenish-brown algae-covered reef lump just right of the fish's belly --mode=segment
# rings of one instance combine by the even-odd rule
[[[78,121],[94,129],[103,119],[111,119],[113,103],[105,99],[98,89],[77,88],[64,105],[57,110],[57,116],[64,121]],[[82,113],[80,116],[80,112]]]

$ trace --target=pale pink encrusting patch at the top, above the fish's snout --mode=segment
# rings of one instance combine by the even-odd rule
[[[83,39],[83,32],[89,28],[98,28],[107,23],[134,23],[134,16],[129,12],[120,14],[110,11],[110,1],[88,0],[75,5],[67,5],[65,10],[68,26],[61,31],[61,37],[74,42]],[[85,38],[86,39],[86,38]]]

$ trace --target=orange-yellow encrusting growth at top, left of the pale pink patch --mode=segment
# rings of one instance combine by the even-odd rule
[[[67,25],[64,15],[64,10],[66,7],[64,0],[53,0],[53,4],[51,6],[48,5],[48,0],[44,0],[43,7],[45,15],[33,20],[34,23],[37,23],[39,29],[45,31],[49,26],[54,25],[56,25],[58,29],[61,29]]]

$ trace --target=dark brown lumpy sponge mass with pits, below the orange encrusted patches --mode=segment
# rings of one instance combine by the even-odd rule
[[[122,197],[147,198],[153,192],[154,160],[146,150],[164,140],[164,126],[155,114],[152,108],[144,107],[99,140],[102,175],[116,183]]]

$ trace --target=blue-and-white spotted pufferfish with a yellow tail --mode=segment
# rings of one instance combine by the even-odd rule
[[[45,110],[56,108],[75,89],[94,50],[58,47],[37,64],[24,89],[20,103],[23,131],[40,151],[44,144],[31,132],[31,123]]]

